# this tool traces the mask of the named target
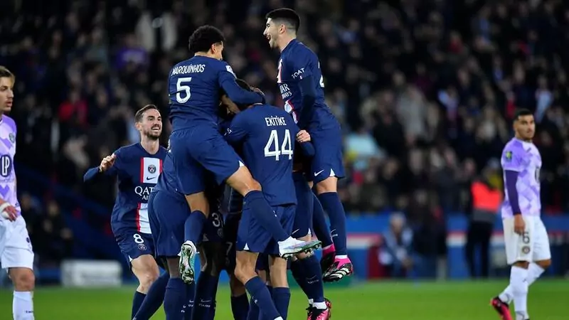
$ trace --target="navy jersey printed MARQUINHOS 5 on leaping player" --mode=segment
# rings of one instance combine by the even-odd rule
[[[235,103],[262,102],[262,95],[244,90],[225,61],[196,55],[170,71],[168,79],[172,130],[199,125],[217,127],[220,95],[225,92]]]

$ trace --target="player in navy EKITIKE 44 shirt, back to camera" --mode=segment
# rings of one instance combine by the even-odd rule
[[[239,85],[251,90],[243,80],[239,80]],[[230,105],[230,102],[225,104]],[[245,164],[261,184],[272,213],[291,234],[297,204],[292,157],[299,129],[289,114],[277,107],[255,104],[240,105],[239,109],[243,111],[231,122],[225,139],[242,150]],[[287,261],[279,256],[277,243],[257,222],[251,208],[243,208],[237,235],[235,276],[245,284],[263,319],[287,319],[290,300]],[[270,255],[272,294],[255,272],[260,253]]]

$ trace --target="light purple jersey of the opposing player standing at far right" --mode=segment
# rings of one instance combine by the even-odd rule
[[[523,142],[520,139],[511,139],[502,151],[501,166],[505,171],[516,171],[516,191],[518,193],[519,208],[522,215],[539,216],[541,214],[539,170],[541,169],[541,154],[535,144]],[[506,183],[504,183],[506,185]],[[502,218],[514,215],[509,201],[508,192],[505,192],[502,205]]]

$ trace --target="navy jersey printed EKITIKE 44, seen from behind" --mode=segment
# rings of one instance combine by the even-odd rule
[[[228,142],[242,148],[243,161],[271,206],[297,203],[292,159],[298,132],[284,110],[255,105],[237,114],[225,134]]]

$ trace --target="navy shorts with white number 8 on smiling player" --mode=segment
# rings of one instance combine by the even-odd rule
[[[149,233],[139,233],[134,228],[132,230],[117,230],[115,240],[129,265],[132,260],[141,255],[152,255],[154,257],[154,240]]]

